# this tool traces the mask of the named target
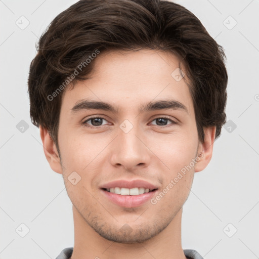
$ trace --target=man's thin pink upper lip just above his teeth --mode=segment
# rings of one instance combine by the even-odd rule
[[[131,181],[126,181],[126,180],[116,180],[116,181],[112,181],[109,182],[107,184],[104,184],[101,186],[102,189],[108,189],[108,188],[115,188],[115,187],[119,187],[119,188],[128,188],[128,189],[132,189],[132,188],[145,188],[145,189],[158,189],[157,186],[144,181],[144,180],[131,180]]]

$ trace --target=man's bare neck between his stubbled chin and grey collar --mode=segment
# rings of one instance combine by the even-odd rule
[[[186,259],[181,242],[182,208],[158,235],[142,243],[117,243],[92,229],[73,206],[74,249],[71,259]]]

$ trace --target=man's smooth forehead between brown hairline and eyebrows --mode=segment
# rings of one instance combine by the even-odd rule
[[[183,65],[181,70],[184,73]],[[68,87],[62,103],[71,110],[79,100],[88,99],[114,104],[117,110],[135,106],[139,110],[151,101],[174,99],[189,111],[192,100],[181,70],[179,59],[165,51],[101,52],[90,79]]]

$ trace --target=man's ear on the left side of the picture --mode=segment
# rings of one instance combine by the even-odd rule
[[[45,156],[53,171],[63,174],[57,147],[48,130],[39,126],[40,138],[43,144]]]

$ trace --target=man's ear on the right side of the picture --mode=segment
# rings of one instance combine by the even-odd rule
[[[200,156],[197,154],[196,164],[194,167],[195,172],[202,171],[209,163],[212,157],[213,144],[215,140],[215,132],[216,127],[206,127],[204,128],[204,143],[200,143],[198,147],[198,154],[201,153]],[[198,158],[199,157],[199,158]]]

